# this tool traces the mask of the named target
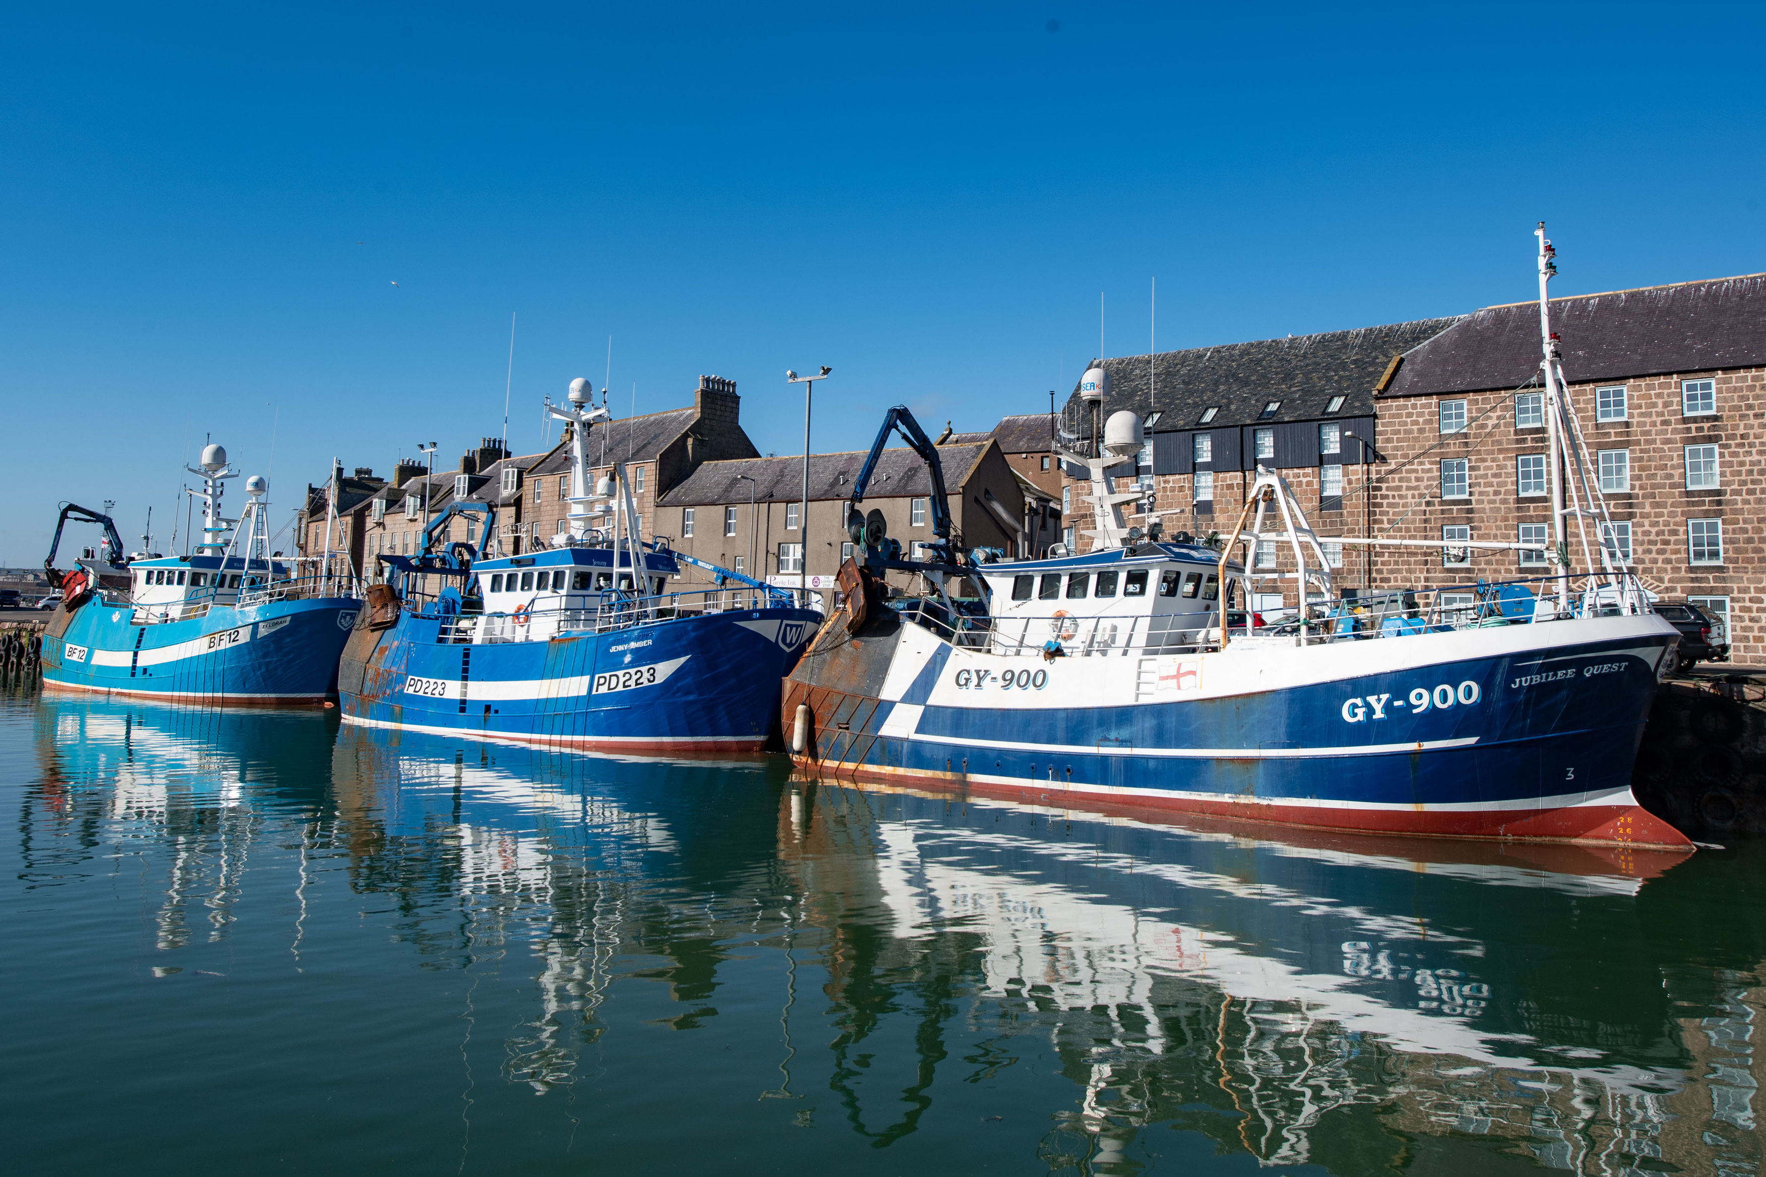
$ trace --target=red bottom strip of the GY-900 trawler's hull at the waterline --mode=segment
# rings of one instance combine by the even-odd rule
[[[816,762],[793,757],[814,775]],[[1404,835],[1422,838],[1483,838],[1503,842],[1565,842],[1651,851],[1690,851],[1694,843],[1635,801],[1630,805],[1577,805],[1540,810],[1399,810],[1282,805],[1277,801],[1208,801],[1190,796],[1113,794],[1093,789],[1005,785],[945,773],[842,766],[830,773],[844,780],[940,785],[945,791],[1028,801],[1063,808],[1123,808],[1155,813],[1197,813],[1233,822],[1259,822],[1337,833]]]

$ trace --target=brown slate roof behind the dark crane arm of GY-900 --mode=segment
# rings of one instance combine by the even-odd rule
[[[984,445],[938,446],[940,464],[945,471],[945,491],[955,491],[975,469],[987,450]],[[869,450],[851,450],[849,454],[812,454],[809,457],[809,498],[814,501],[844,499],[853,492],[853,480],[858,478]],[[804,457],[740,457],[721,462],[705,462],[692,471],[678,487],[664,494],[660,506],[703,506],[708,503],[747,503],[749,484],[738,475],[754,478],[756,503],[795,503],[804,496]],[[883,450],[878,455],[876,471],[871,475],[871,487],[865,498],[901,498],[908,494],[931,494],[932,476],[925,462],[913,450],[901,446]]]

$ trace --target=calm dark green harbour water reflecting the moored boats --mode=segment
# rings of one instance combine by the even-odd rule
[[[0,701],[16,1173],[1759,1173],[1766,847]]]

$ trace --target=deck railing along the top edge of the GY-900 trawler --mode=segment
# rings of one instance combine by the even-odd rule
[[[1360,593],[1310,602],[1305,626],[1298,609],[1247,614],[1227,605],[1229,644],[1319,646],[1344,641],[1450,633],[1455,630],[1533,625],[1648,612],[1651,593],[1641,581],[1612,584],[1609,575],[1572,581],[1568,607],[1551,589],[1558,577],[1476,581],[1425,589]],[[913,616],[954,646],[1005,656],[1125,658],[1220,649],[1220,614],[1065,614],[1033,618],[957,618],[922,611]],[[1245,639],[1250,639],[1249,642]],[[1056,649],[1060,653],[1056,653]]]

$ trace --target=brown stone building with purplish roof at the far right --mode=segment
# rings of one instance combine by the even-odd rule
[[[1614,519],[1614,547],[1667,598],[1725,621],[1731,660],[1766,662],[1766,275],[1552,298],[1563,372]],[[1408,349],[1376,395],[1379,535],[1551,535],[1538,304],[1487,307]],[[1566,499],[1568,503],[1568,494]],[[1406,514],[1408,512],[1408,514]],[[1584,566],[1574,522],[1574,566]],[[1376,551],[1420,588],[1545,575],[1543,556]]]

